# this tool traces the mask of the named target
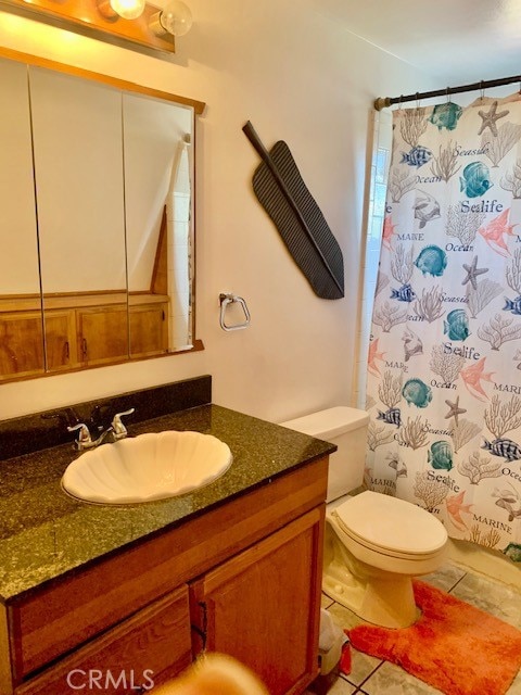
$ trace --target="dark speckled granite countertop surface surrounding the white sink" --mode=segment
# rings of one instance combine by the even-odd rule
[[[61,489],[71,443],[0,460],[0,599],[12,601],[106,554],[173,528],[335,446],[220,407],[201,405],[135,425],[129,435],[194,430],[226,442],[227,472],[209,485],[139,505],[94,505]]]

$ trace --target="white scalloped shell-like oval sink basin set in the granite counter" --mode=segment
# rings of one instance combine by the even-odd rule
[[[71,495],[101,504],[136,504],[198,490],[221,476],[232,455],[227,444],[200,432],[140,434],[81,454],[65,470]]]

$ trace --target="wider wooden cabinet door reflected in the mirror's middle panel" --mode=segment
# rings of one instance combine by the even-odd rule
[[[127,304],[93,306],[77,312],[78,353],[82,364],[128,358]]]

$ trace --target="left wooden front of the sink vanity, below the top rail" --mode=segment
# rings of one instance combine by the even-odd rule
[[[188,586],[143,608],[59,665],[15,688],[15,695],[136,693],[179,673],[191,662]]]

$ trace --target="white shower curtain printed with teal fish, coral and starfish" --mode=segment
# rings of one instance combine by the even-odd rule
[[[521,99],[393,130],[367,481],[521,563]]]

